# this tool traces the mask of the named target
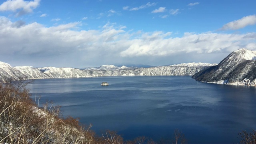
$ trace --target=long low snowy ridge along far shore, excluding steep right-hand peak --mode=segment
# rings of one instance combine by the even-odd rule
[[[78,68],[34,68],[16,66],[0,62],[0,82],[12,80],[29,80],[45,78],[81,78],[95,76],[192,76],[212,64],[183,64],[182,66],[158,66],[152,68],[133,68],[114,65],[103,65],[98,68],[83,70]]]

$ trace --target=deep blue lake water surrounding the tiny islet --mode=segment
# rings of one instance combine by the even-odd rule
[[[108,82],[109,86],[101,86]],[[238,132],[256,129],[256,87],[197,82],[191,76],[111,76],[34,80],[27,88],[62,106],[101,134],[116,130],[126,140],[171,138],[189,143],[238,143]]]

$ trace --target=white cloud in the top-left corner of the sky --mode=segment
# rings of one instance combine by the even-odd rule
[[[40,0],[24,1],[24,0],[7,0],[0,5],[0,11],[13,11],[16,12],[16,16],[21,16],[33,12],[37,6],[39,6]]]

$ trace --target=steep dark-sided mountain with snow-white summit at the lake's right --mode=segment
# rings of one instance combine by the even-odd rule
[[[202,70],[192,78],[200,82],[256,86],[256,52],[236,50],[217,66]]]

